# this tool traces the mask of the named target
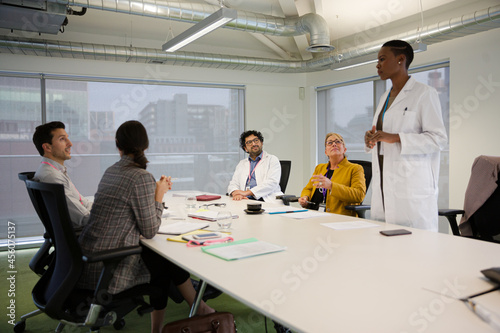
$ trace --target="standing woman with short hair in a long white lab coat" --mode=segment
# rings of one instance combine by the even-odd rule
[[[447,135],[436,90],[408,75],[412,60],[411,45],[401,40],[378,53],[377,73],[392,87],[365,133],[372,153],[371,218],[438,231],[439,155]]]

